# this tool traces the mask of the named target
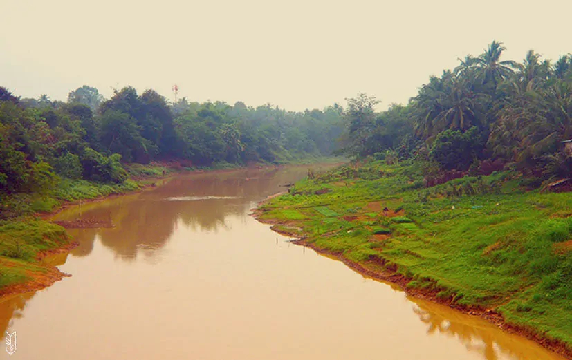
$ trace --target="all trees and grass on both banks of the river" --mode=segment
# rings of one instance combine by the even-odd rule
[[[131,87],[105,100],[83,86],[66,103],[0,88],[0,218],[136,189],[129,173],[169,171],[156,160],[233,167],[343,154],[350,166],[308,171],[261,218],[373,272],[397,272],[409,287],[572,345],[572,151],[563,146],[572,138],[572,55],[551,61],[531,50],[517,62],[502,59],[504,50],[493,41],[381,112],[365,94],[347,108],[296,113],[169,104]],[[21,243],[6,235],[22,230],[14,226],[0,224],[0,261],[57,245],[37,231],[21,233]],[[22,277],[10,279],[0,285]]]

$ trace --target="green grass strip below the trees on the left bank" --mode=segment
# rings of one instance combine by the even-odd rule
[[[156,165],[131,164],[131,176],[138,178],[160,177],[169,169]],[[133,180],[122,184],[104,184],[87,180],[63,178],[49,193],[19,193],[0,195],[0,288],[30,280],[33,272],[46,271],[39,263],[39,252],[62,247],[71,240],[65,229],[35,218],[36,213],[46,213],[59,207],[64,201],[87,200],[129,193],[141,189]]]

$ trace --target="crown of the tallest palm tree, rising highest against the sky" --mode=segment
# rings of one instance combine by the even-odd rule
[[[506,50],[502,43],[492,41],[485,52],[475,59],[479,68],[479,77],[482,84],[492,82],[495,88],[497,84],[513,73],[515,61],[500,61],[503,51]]]

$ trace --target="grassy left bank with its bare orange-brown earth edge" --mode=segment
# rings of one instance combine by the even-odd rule
[[[66,204],[139,191],[154,179],[185,170],[165,164],[126,167],[130,179],[120,184],[64,178],[48,193],[1,196],[0,296],[37,290],[65,276],[43,260],[48,254],[73,247],[73,239],[63,227],[43,220],[41,214]]]

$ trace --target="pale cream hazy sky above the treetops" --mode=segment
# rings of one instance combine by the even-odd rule
[[[572,52],[572,1],[0,0],[0,85],[66,100],[89,84],[289,110],[357,93],[407,102],[430,75],[504,42]]]

